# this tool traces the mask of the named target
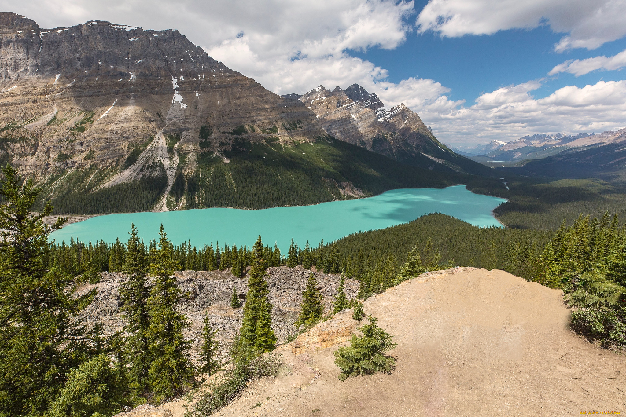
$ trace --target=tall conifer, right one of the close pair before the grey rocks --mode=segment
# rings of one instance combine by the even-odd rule
[[[171,276],[178,263],[172,260],[172,245],[163,230],[159,229],[156,261],[150,265],[155,283],[150,292],[150,386],[156,399],[167,399],[182,392],[183,384],[193,376],[193,367],[188,353],[190,341],[183,330],[190,326],[187,316],[178,313],[175,305],[183,297]]]

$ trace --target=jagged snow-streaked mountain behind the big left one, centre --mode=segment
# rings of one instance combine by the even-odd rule
[[[314,111],[327,134],[401,163],[438,171],[488,174],[488,170],[440,143],[417,113],[398,104],[386,108],[376,94],[358,84],[332,91],[319,86],[287,94]]]

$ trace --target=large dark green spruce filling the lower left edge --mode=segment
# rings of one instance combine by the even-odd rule
[[[44,415],[70,369],[89,353],[78,314],[94,292],[77,297],[74,280],[48,267],[52,225],[46,203],[31,213],[41,188],[23,181],[9,164],[0,181],[0,415]]]

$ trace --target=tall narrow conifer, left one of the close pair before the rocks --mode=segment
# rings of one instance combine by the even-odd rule
[[[125,319],[124,331],[129,334],[126,339],[126,358],[130,363],[128,378],[135,391],[143,392],[148,388],[148,373],[152,363],[148,328],[150,312],[148,299],[150,287],[145,273],[145,258],[140,251],[140,241],[135,224],[130,224],[130,238],[126,244],[128,251],[122,266],[128,281],[121,284],[121,312]]]

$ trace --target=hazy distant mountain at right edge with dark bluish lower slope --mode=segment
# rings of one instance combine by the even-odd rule
[[[600,178],[626,184],[626,129],[578,138],[557,149],[560,152],[552,156],[500,169],[525,176]]]

